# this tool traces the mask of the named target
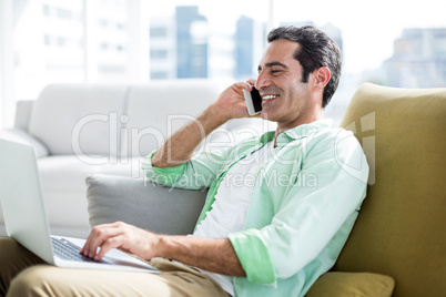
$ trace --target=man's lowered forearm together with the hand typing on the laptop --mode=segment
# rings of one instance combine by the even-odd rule
[[[115,222],[93,227],[80,253],[100,260],[112,248],[144,259],[163,257],[213,273],[245,276],[227,238],[161,235]]]

